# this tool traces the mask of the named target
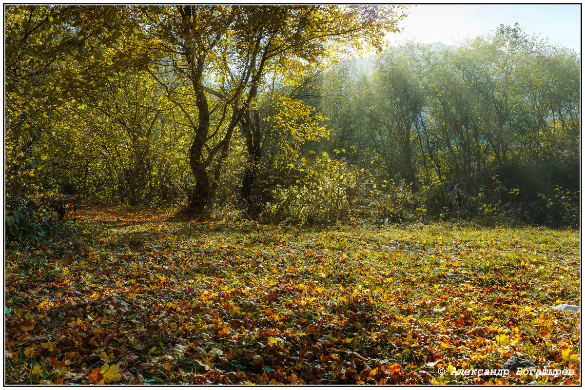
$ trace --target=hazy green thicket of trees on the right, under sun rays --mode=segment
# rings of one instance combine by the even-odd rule
[[[378,178],[424,192],[429,215],[560,226],[569,219],[546,216],[537,194],[577,190],[578,64],[518,25],[456,48],[407,43],[369,70],[330,70],[323,88],[343,96],[322,112],[335,147],[375,153]]]

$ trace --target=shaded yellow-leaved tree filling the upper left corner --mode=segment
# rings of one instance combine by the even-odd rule
[[[8,6],[5,16],[6,180],[29,188],[35,147],[67,115],[67,102],[121,71],[128,46],[113,48],[137,22],[116,6]]]

